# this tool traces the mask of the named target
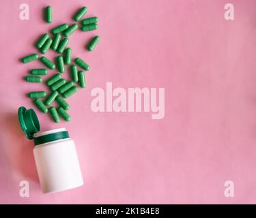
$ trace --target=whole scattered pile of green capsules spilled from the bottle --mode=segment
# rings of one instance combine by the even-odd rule
[[[73,17],[73,19],[76,22],[79,22],[83,16],[87,12],[87,7],[82,7]],[[53,22],[53,10],[51,6],[47,6],[44,8],[45,13],[45,21],[48,23]],[[81,20],[81,30],[82,31],[92,31],[95,29],[98,29],[98,17],[91,17],[91,18],[85,18]],[[33,99],[33,102],[35,106],[38,107],[38,109],[44,113],[49,112],[51,114],[51,117],[55,123],[59,123],[59,115],[65,120],[70,121],[70,115],[68,114],[67,110],[69,110],[70,106],[66,102],[66,98],[70,97],[74,93],[76,93],[79,88],[76,87],[75,82],[78,82],[79,86],[81,88],[85,88],[85,73],[83,70],[78,70],[78,67],[81,67],[82,69],[85,69],[85,71],[89,71],[89,65],[83,61],[83,59],[76,57],[74,59],[74,62],[76,63],[70,66],[70,76],[72,80],[67,81],[64,78],[62,78],[63,72],[66,71],[65,65],[71,64],[71,54],[72,50],[71,48],[66,48],[68,45],[68,37],[76,31],[76,29],[79,28],[79,25],[77,23],[74,23],[70,26],[68,24],[64,23],[62,25],[59,25],[58,27],[55,27],[51,30],[53,33],[53,38],[50,37],[48,33],[45,33],[40,37],[38,42],[36,43],[36,47],[42,54],[46,54],[48,50],[51,48],[54,51],[57,51],[60,55],[56,57],[55,63],[57,65],[57,71],[59,73],[53,75],[51,78],[46,80],[46,85],[51,89],[51,94],[46,97],[45,91],[33,91],[28,94],[28,96]],[[61,36],[63,35],[63,38]],[[62,39],[61,39],[62,38]],[[93,37],[88,46],[87,50],[92,51],[96,47],[100,40],[100,37],[96,35]],[[63,55],[61,55],[63,54]],[[47,59],[46,57],[42,56],[39,57],[38,54],[32,54],[28,55],[26,57],[23,57],[21,61],[23,63],[29,63],[31,61],[35,61],[40,59],[40,61],[48,68],[48,69],[56,69],[55,63],[53,61]],[[48,69],[31,69],[30,74],[31,76],[26,76],[25,80],[27,82],[43,82],[43,78],[40,76],[47,75]],[[62,97],[61,97],[62,95]],[[44,102],[42,101],[42,98],[46,97]],[[54,106],[51,106],[53,102],[57,102],[59,104],[58,108],[55,108]]]

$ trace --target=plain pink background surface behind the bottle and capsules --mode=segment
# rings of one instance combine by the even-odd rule
[[[0,203],[256,203],[255,0],[0,3]],[[20,3],[29,4],[29,20],[19,19]],[[234,4],[235,20],[224,19],[225,3]],[[42,20],[48,4],[53,6],[52,24]],[[18,59],[37,52],[33,44],[42,33],[63,22],[72,24],[72,15],[83,5],[87,17],[100,21],[98,31],[70,36],[73,57],[91,66],[87,88],[68,99],[72,121],[55,124],[35,110],[42,130],[68,129],[85,185],[45,195],[33,142],[17,118],[19,106],[35,108],[26,93],[46,89],[23,81],[29,69],[43,65]],[[102,40],[87,52],[85,45],[95,34]],[[55,55],[50,51],[46,57]],[[105,89],[106,82],[125,89],[164,87],[165,118],[92,112],[91,89]],[[22,180],[29,181],[29,198],[19,196]],[[234,198],[223,194],[227,180],[235,184]]]

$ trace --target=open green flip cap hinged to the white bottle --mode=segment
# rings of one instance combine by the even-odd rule
[[[33,134],[40,131],[38,116],[36,116],[33,109],[18,108],[18,120],[20,121],[21,129],[23,129],[28,139],[33,139]]]

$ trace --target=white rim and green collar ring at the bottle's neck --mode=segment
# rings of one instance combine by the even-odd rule
[[[43,131],[33,135],[35,146],[38,144],[45,144],[66,138],[70,138],[70,136],[68,135],[68,131],[65,128]]]

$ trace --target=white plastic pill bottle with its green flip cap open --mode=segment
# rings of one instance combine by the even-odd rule
[[[83,176],[74,141],[65,128],[40,132],[38,116],[33,109],[18,109],[20,126],[34,141],[33,155],[43,193],[55,193],[80,187]]]

